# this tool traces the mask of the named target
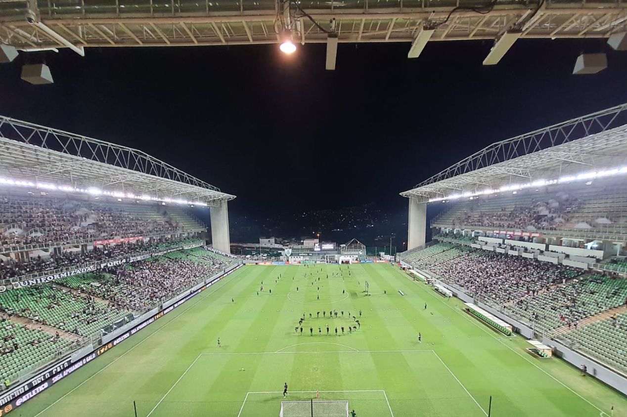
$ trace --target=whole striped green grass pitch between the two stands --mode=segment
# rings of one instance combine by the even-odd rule
[[[559,359],[530,356],[522,337],[498,334],[398,267],[354,264],[349,277],[342,265],[344,279],[338,271],[243,267],[12,415],[131,417],[135,401],[140,417],[278,416],[287,382],[289,401],[319,391],[359,417],[482,417],[490,396],[498,417],[611,416],[612,406],[627,416],[621,394]],[[361,328],[335,336],[359,310]]]

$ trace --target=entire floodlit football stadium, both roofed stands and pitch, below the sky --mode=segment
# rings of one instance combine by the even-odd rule
[[[357,237],[257,259],[231,254],[234,195],[3,118],[2,413],[627,415],[626,109],[402,192],[396,256]]]

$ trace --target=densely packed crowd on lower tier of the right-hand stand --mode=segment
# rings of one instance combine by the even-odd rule
[[[473,250],[433,264],[429,270],[475,296],[502,303],[537,294],[553,284],[576,276],[571,267],[512,257],[498,252]]]

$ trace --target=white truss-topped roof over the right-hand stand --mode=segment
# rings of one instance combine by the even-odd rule
[[[627,103],[493,143],[404,197],[429,201],[627,174]]]

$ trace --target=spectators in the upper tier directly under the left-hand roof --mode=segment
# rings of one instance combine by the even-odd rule
[[[4,232],[0,244],[4,250],[9,250],[21,245],[181,231],[165,217],[159,219],[155,214],[144,218],[136,211],[128,211],[124,205],[3,196],[0,197],[0,225]]]

